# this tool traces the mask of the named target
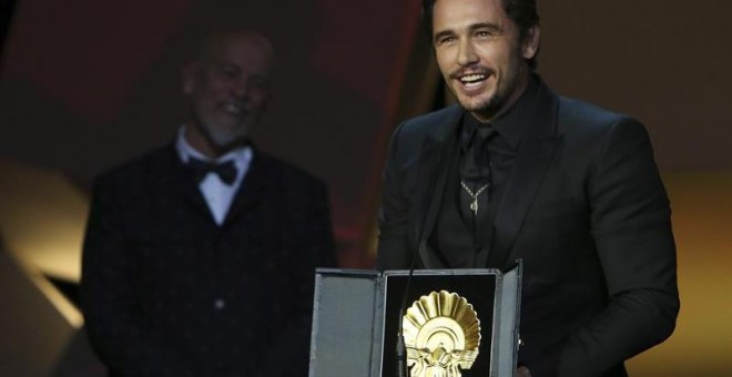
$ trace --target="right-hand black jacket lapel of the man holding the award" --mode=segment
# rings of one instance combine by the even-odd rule
[[[517,160],[498,206],[494,223],[494,241],[488,267],[501,268],[510,254],[526,215],[539,191],[561,135],[556,134],[558,96],[543,83],[536,103],[536,112],[527,120]]]

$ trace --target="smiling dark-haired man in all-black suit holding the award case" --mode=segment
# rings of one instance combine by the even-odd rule
[[[644,128],[533,73],[535,0],[427,0],[424,14],[459,106],[395,131],[378,268],[521,258],[518,374],[624,376],[623,360],[665,339],[679,310],[669,201]]]

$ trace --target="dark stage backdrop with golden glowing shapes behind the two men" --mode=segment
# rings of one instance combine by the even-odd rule
[[[640,119],[671,195],[679,328],[630,369],[721,375],[732,367],[724,293],[732,284],[732,2],[539,7],[539,72],[565,95]],[[417,0],[6,2],[13,17],[0,67],[0,268],[22,273],[3,274],[0,285],[0,334],[11,334],[0,335],[0,375],[98,370],[64,356],[83,322],[59,295],[78,281],[90,183],[172,140],[185,116],[179,67],[200,27],[243,26],[272,38],[274,99],[257,145],[328,183],[340,265],[373,266],[389,134],[444,102],[418,8]]]

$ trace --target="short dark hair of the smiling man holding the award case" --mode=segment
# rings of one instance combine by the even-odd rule
[[[433,39],[433,9],[438,0],[421,0],[421,19],[427,31],[427,38]],[[508,18],[519,28],[519,39],[523,40],[529,35],[529,30],[539,26],[539,12],[537,11],[536,0],[500,0]],[[526,62],[531,70],[536,70],[539,50],[531,59]]]

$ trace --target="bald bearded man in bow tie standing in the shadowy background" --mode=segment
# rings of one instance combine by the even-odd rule
[[[81,296],[120,376],[305,376],[314,269],[335,264],[327,195],[256,150],[270,42],[213,33],[183,70],[171,145],[101,175]]]

